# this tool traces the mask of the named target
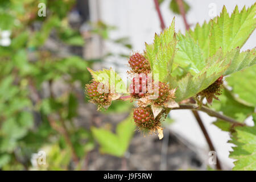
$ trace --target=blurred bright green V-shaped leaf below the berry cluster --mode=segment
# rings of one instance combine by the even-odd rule
[[[93,137],[100,143],[102,153],[118,157],[125,155],[135,129],[131,117],[132,114],[117,125],[116,134],[106,129],[92,128]]]

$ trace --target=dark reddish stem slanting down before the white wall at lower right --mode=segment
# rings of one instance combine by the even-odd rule
[[[214,146],[213,146],[212,140],[210,139],[210,136],[209,136],[207,130],[205,129],[204,123],[203,123],[203,121],[202,121],[202,119],[201,119],[199,113],[198,113],[196,110],[192,110],[192,113],[193,113],[193,115],[195,116],[195,118],[196,118],[196,120],[197,120],[197,123],[199,123],[199,126],[200,126],[201,130],[203,131],[204,137],[205,137],[205,139],[207,140],[207,143],[208,143],[208,146],[209,146],[210,150],[211,150],[211,151],[216,151],[215,148],[214,148]],[[216,162],[217,162],[217,163],[216,163],[216,168],[217,168],[218,170],[222,170],[222,169],[221,169],[220,161],[218,160],[218,157],[216,158],[216,160],[217,160],[217,161],[216,161]]]

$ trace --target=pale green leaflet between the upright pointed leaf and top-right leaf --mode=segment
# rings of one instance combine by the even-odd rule
[[[174,64],[180,67],[188,67],[188,71],[194,75],[205,67],[205,60],[201,48],[195,43],[189,34],[186,36],[177,34],[177,53],[174,57]]]

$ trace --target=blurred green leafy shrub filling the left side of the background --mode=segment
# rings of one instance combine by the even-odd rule
[[[38,16],[42,2],[46,17]],[[0,1],[0,169],[82,169],[86,154],[94,149],[92,131],[77,128],[73,119],[80,102],[87,101],[82,94],[91,78],[87,67],[102,58],[60,53],[61,47],[85,44],[68,23],[75,2]],[[92,33],[109,39],[110,30],[98,23]],[[57,50],[47,47],[49,38],[57,42]],[[115,42],[130,48],[126,39]],[[65,89],[56,93],[57,82]],[[31,156],[39,150],[48,151],[48,163],[31,166]]]

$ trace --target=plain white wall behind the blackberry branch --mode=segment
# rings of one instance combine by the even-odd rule
[[[142,52],[144,49],[144,42],[151,43],[154,39],[155,32],[159,34],[160,23],[158,15],[156,14],[153,0],[98,0],[100,2],[100,15],[101,19],[107,24],[111,24],[118,27],[117,31],[110,34],[112,38],[119,38],[122,36],[130,37],[130,42],[133,45],[134,51]],[[168,9],[168,0],[163,2],[160,9],[163,13],[163,18],[166,26],[171,24],[174,14]],[[209,20],[209,4],[215,3],[217,6],[217,14],[222,10],[222,6],[225,5],[229,13],[231,13],[236,5],[241,10],[243,5],[249,7],[253,5],[254,0],[187,0],[191,6],[191,10],[187,14],[187,19],[191,27],[195,26],[197,22],[202,24],[204,20]],[[181,16],[176,16],[176,31],[181,30],[184,32],[184,24]],[[256,33],[251,35],[243,49],[249,49],[255,47]],[[106,43],[105,48],[115,51],[125,51],[122,48],[113,46],[113,44]],[[126,53],[131,53],[127,52]],[[117,59],[113,57],[111,61],[116,61],[123,64],[122,68],[118,70],[122,73],[126,71],[127,60]],[[107,67],[113,65],[106,64]],[[211,125],[214,118],[209,117],[207,114],[200,113],[203,118],[204,124],[209,131],[210,137],[213,139],[213,144],[217,149],[217,155],[222,163],[225,163],[229,167],[233,167],[233,160],[228,158],[229,150],[231,150],[231,144],[226,143],[229,140],[229,134],[221,131],[216,126]],[[172,130],[175,130],[180,135],[183,135],[186,139],[193,144],[203,148],[207,151],[208,146],[205,142],[203,133],[193,115],[190,111],[171,111],[172,118],[175,118],[176,122],[171,126]]]

